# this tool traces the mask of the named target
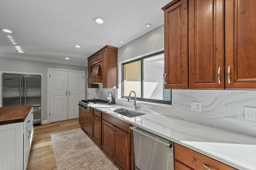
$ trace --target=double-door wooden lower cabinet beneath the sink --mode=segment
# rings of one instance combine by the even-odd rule
[[[102,148],[124,170],[134,170],[130,123],[102,112]]]

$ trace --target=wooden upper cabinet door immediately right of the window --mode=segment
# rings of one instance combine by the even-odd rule
[[[173,1],[164,10],[164,88],[188,88],[187,0]],[[174,3],[174,4],[173,4]]]

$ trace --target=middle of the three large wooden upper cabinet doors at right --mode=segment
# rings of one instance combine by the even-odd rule
[[[224,0],[188,2],[188,86],[224,89]]]

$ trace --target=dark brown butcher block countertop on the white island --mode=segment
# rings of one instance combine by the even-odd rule
[[[24,122],[32,105],[0,107],[0,125]]]

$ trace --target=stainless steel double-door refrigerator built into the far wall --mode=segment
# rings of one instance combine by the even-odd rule
[[[34,124],[41,123],[41,75],[2,74],[2,106],[32,105]]]

